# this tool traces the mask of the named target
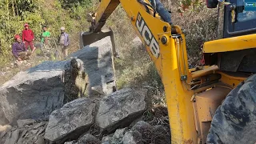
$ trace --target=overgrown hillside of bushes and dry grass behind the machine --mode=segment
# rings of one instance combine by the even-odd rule
[[[190,61],[191,63],[196,61],[203,42],[217,38],[218,11],[206,9],[204,2],[201,1],[191,1],[190,3],[184,0],[162,2],[167,9],[172,11],[174,24],[182,26],[182,29],[186,31],[186,43],[188,53],[190,54]],[[79,32],[88,30],[89,23],[86,22],[86,14],[94,11],[97,3],[98,1],[95,0],[1,2],[0,71],[4,73],[1,74],[1,77],[6,77],[4,78],[6,81],[19,70],[24,70],[24,68],[19,68],[18,70],[12,70],[11,74],[5,73],[6,66],[10,68],[10,62],[13,62],[14,59],[10,53],[11,43],[14,42],[13,36],[14,34],[21,34],[25,22],[28,22],[30,28],[34,30],[36,42],[40,40],[42,26],[48,26],[48,30],[52,34],[50,40],[52,49],[56,49],[55,42],[57,42],[56,38],[58,37],[60,27],[65,26],[67,33],[71,35],[70,53],[73,53],[79,49]],[[178,11],[181,11],[184,4],[191,4],[191,6],[189,10],[183,11],[181,15]],[[6,10],[8,13],[6,13]],[[190,18],[191,16],[194,18]],[[139,84],[142,83],[141,81],[150,82],[150,85],[154,84],[153,87],[161,85],[161,82],[158,80],[158,74],[154,70],[154,66],[147,57],[145,50],[139,50],[138,53],[136,48],[130,46],[130,42],[136,35],[130,25],[129,18],[126,17],[124,10],[122,10],[122,6],[118,6],[110,16],[106,26],[110,26],[114,30],[118,53],[121,57],[121,59],[115,62],[118,67],[118,79],[120,80],[118,81],[118,86],[126,86],[129,83]],[[40,53],[39,50],[38,53]],[[37,57],[33,60],[31,66],[35,66],[47,59],[49,58]]]

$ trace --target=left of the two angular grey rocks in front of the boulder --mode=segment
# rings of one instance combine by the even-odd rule
[[[58,143],[78,138],[94,123],[95,106],[90,98],[78,98],[60,110],[54,110],[50,114],[45,138]]]

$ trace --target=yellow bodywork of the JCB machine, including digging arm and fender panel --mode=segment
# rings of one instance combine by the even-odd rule
[[[149,3],[147,0],[144,2]],[[91,14],[91,32],[81,34],[81,46],[100,38],[106,19],[121,4],[142,40],[162,78],[170,118],[171,142],[178,144],[203,143],[215,110],[239,82],[248,75],[224,73],[218,66],[188,67],[186,38],[179,26],[170,26],[153,11],[146,12],[137,0],[102,0]],[[173,33],[175,31],[175,34]],[[146,37],[147,35],[147,37]],[[106,35],[105,35],[106,36]],[[103,37],[105,37],[103,36]],[[102,38],[102,37],[101,37]],[[165,42],[162,42],[162,39]],[[206,42],[204,53],[242,50],[256,47],[256,34]],[[90,43],[89,42],[89,43]]]

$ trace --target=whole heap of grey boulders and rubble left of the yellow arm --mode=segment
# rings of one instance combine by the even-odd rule
[[[148,90],[114,89],[110,43],[104,38],[4,83],[0,143],[170,143],[167,110],[151,107]]]

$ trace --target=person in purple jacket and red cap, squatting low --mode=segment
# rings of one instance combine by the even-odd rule
[[[18,61],[23,61],[30,58],[31,52],[25,49],[25,44],[22,42],[22,38],[16,34],[14,36],[16,42],[12,46],[12,53]]]

